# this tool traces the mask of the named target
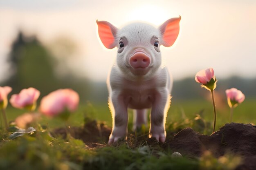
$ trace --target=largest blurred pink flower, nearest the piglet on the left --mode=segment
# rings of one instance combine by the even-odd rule
[[[43,97],[40,111],[50,117],[64,113],[66,110],[74,112],[79,104],[79,95],[72,89],[59,89]]]

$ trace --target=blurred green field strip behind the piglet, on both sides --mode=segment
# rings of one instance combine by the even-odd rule
[[[256,99],[246,99],[242,104],[234,109],[233,122],[236,123],[252,123],[256,124]],[[227,103],[222,104],[217,107],[217,122],[216,130],[221,126],[229,123],[229,106]],[[7,117],[9,120],[14,120],[18,115],[25,113],[25,110],[20,110],[11,107],[7,107]],[[129,125],[132,125],[133,114],[132,110],[129,110]],[[177,101],[173,100],[168,111],[166,125],[185,123],[185,119],[194,119],[197,114],[200,114],[201,117],[206,121],[212,124],[213,120],[213,106],[211,101],[204,99],[195,99],[195,100],[182,100]],[[90,117],[92,119],[97,119],[98,121],[104,121],[106,125],[112,126],[112,117],[108,109],[108,104],[106,103],[95,103],[90,102],[81,103],[79,109],[76,113],[73,113],[68,121],[68,124],[72,126],[81,126],[83,125],[84,117]],[[148,115],[149,117],[149,115]],[[49,128],[56,128],[64,126],[64,123],[61,119],[51,119],[49,117],[42,116],[40,124],[48,125]],[[210,127],[211,129],[211,127]]]

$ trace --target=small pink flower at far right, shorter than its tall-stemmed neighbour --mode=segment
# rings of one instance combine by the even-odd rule
[[[242,103],[245,100],[245,95],[237,90],[236,88],[230,88],[226,90],[227,102],[229,107],[236,107],[238,104]]]

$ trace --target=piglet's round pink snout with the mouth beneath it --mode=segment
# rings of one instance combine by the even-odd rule
[[[136,49],[129,59],[130,71],[134,75],[146,75],[150,69],[150,57],[143,49]]]

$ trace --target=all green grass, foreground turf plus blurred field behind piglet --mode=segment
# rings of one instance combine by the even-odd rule
[[[237,123],[256,122],[256,99],[246,99],[243,104],[234,109],[233,121]],[[14,120],[18,115],[25,113],[8,106],[7,116]],[[68,121],[71,126],[83,126],[84,118],[90,117],[104,121],[108,126],[112,118],[107,103],[81,103],[76,113]],[[178,132],[182,128],[192,127],[198,132],[210,135],[212,130],[213,108],[207,100],[173,100],[167,121],[166,130]],[[229,122],[229,107],[226,103],[217,105],[217,126]],[[0,170],[198,170],[198,169],[226,169],[235,168],[239,158],[225,155],[215,158],[206,154],[202,158],[189,159],[173,158],[172,152],[159,150],[146,144],[132,147],[126,143],[117,146],[90,149],[83,141],[70,137],[63,140],[52,138],[49,131],[56,127],[63,127],[61,119],[50,119],[43,116],[39,123],[47,125],[47,130],[39,128],[32,135],[24,135],[16,139],[8,139],[6,132],[0,133]],[[129,110],[129,129],[132,126],[132,110]],[[9,134],[11,134],[9,132]]]

